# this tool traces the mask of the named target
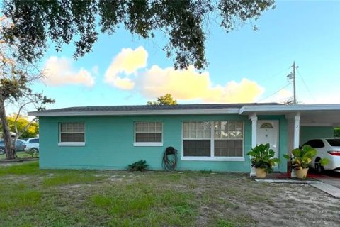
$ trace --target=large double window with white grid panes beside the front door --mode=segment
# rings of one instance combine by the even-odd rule
[[[243,121],[183,122],[183,160],[244,160]]]

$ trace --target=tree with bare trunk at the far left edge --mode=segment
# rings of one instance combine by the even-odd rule
[[[42,77],[42,73],[37,70],[33,63],[18,57],[18,38],[11,37],[11,42],[7,42],[4,34],[6,28],[13,27],[7,18],[0,18],[0,121],[3,130],[6,159],[16,157],[16,139],[18,138],[18,128],[16,127],[16,138],[12,141],[6,118],[6,104],[18,106],[18,116],[28,105],[35,106],[36,109],[43,109],[45,104],[54,100],[48,99],[42,93],[35,93],[30,89],[30,84]],[[18,117],[15,120],[17,126]]]

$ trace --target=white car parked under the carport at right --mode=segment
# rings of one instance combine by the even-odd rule
[[[317,150],[317,155],[315,155],[310,163],[310,166],[314,167],[317,172],[322,172],[322,170],[340,172],[340,138],[318,138],[309,140],[304,145],[310,145]],[[319,160],[324,157],[329,160],[329,163],[322,167]]]

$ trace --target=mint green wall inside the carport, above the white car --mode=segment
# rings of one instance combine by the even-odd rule
[[[301,126],[300,145],[314,138],[334,137],[334,128],[331,126]]]

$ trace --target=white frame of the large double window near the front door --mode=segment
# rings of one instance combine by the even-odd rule
[[[208,121],[210,123],[210,157],[200,157],[200,156],[184,156],[184,144],[183,140],[204,140],[202,139],[190,139],[183,138],[183,123],[184,122],[203,122],[203,121],[182,121],[181,128],[181,143],[182,143],[182,152],[181,152],[181,160],[183,161],[230,161],[230,162],[244,162],[244,121],[243,123],[243,137],[242,137],[242,157],[215,157],[215,122],[222,121],[239,121],[239,120],[220,120],[220,121]],[[217,138],[218,139],[218,138]],[[240,138],[237,138],[239,140]]]

